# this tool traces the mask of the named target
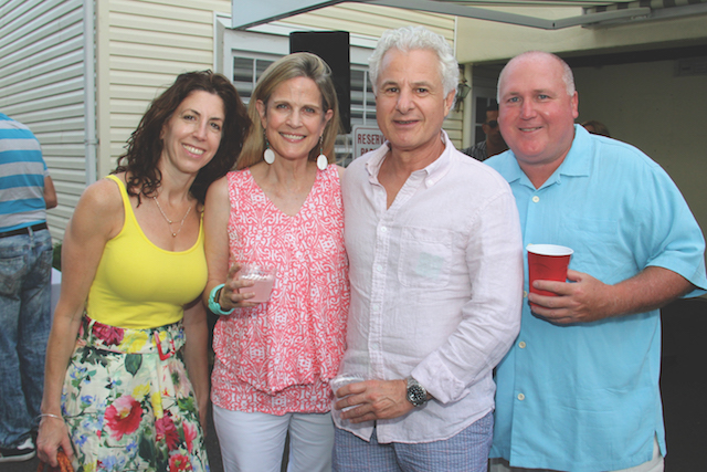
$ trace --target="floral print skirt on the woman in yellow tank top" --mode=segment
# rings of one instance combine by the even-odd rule
[[[84,316],[62,392],[76,472],[209,471],[181,322],[150,329]]]

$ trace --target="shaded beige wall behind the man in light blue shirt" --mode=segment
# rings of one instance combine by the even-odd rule
[[[604,123],[612,137],[657,161],[705,232],[707,75],[675,76],[674,71],[675,61],[576,69],[579,120]]]

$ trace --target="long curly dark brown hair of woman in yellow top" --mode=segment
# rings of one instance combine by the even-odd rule
[[[152,101],[137,129],[130,135],[126,151],[118,157],[118,166],[113,171],[126,172],[128,195],[137,197],[138,204],[140,196],[155,195],[161,185],[162,176],[157,164],[163,148],[160,138],[162,127],[184,98],[194,91],[204,91],[221,97],[225,119],[219,150],[213,159],[199,170],[189,189],[191,195],[203,203],[211,182],[231,170],[241,154],[245,136],[251,129],[251,119],[233,84],[225,76],[211,71],[180,74],[169,88]]]

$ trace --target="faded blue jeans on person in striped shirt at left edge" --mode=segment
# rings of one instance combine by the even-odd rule
[[[52,326],[52,237],[0,238],[0,447],[30,437],[40,413]]]

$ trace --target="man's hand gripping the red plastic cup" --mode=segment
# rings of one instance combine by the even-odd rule
[[[558,296],[545,296],[529,293],[528,301],[534,303],[532,313],[550,323],[589,323],[614,316],[616,294],[614,285],[582,272],[567,271],[571,283],[535,281],[538,290],[556,293]]]

